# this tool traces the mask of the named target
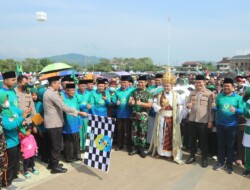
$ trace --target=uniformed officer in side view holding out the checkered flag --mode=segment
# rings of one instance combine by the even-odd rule
[[[43,95],[44,125],[48,131],[51,152],[48,168],[51,168],[52,174],[67,172],[67,169],[59,165],[62,150],[63,112],[73,116],[87,116],[85,112],[69,108],[63,103],[63,99],[58,92],[60,87],[59,79],[60,77],[49,78],[49,87]]]

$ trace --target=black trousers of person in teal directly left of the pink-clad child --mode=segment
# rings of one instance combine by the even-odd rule
[[[3,173],[3,187],[11,185],[12,180],[17,178],[19,154],[20,148],[18,145],[7,149],[7,170]]]

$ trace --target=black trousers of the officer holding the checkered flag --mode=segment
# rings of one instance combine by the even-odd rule
[[[62,127],[47,129],[50,143],[51,168],[58,167],[60,153],[62,150]]]

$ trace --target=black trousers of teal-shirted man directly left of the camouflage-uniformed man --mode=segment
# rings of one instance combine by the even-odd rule
[[[128,151],[131,150],[131,120],[130,118],[117,118],[118,127],[118,147],[122,147],[124,144],[124,139],[126,140]]]

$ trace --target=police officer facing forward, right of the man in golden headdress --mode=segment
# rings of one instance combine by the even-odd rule
[[[197,139],[200,142],[202,151],[201,166],[207,167],[208,153],[208,134],[213,127],[212,103],[215,102],[214,94],[205,88],[205,77],[197,75],[195,79],[195,90],[189,95],[187,107],[189,114],[189,138],[190,138],[190,157],[187,164],[195,162]]]

